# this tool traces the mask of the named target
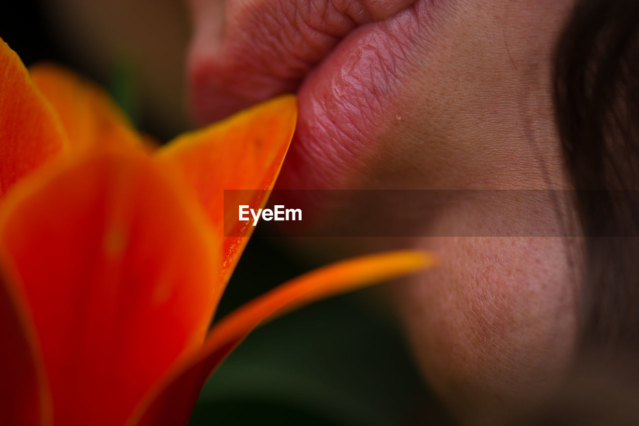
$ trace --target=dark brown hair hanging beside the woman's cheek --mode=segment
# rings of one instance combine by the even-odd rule
[[[585,268],[574,369],[543,420],[639,424],[639,0],[578,1],[555,65]]]

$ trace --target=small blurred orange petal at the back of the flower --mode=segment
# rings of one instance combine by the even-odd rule
[[[56,65],[29,69],[33,83],[56,109],[71,147],[142,146],[139,136],[104,90]]]

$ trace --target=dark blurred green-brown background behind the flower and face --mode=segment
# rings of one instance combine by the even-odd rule
[[[162,141],[189,127],[188,26],[177,1],[7,3],[0,36],[27,66],[51,60],[73,68],[108,88],[142,132]],[[317,266],[282,247],[258,229],[216,318]],[[206,383],[190,424],[451,424],[378,296],[373,289],[335,297],[252,333]]]

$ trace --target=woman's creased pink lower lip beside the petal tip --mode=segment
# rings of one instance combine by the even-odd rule
[[[307,76],[298,91],[299,120],[279,189],[341,189],[366,170],[397,107],[399,57],[380,24],[360,28]]]

